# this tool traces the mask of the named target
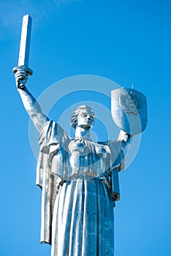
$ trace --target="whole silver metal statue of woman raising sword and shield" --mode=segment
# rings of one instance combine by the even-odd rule
[[[71,138],[42,113],[25,87],[32,74],[28,69],[30,35],[31,19],[26,15],[18,67],[13,72],[23,106],[40,133],[37,185],[42,189],[41,243],[51,244],[51,256],[113,256],[113,206],[120,198],[118,173],[124,169],[131,142],[128,133],[134,135],[146,127],[146,102],[134,89],[113,91],[112,113],[121,132],[118,140],[101,143],[91,140],[94,112],[81,106],[72,115],[75,138]],[[136,128],[136,122],[130,131],[124,115],[138,117],[134,120],[140,120],[141,127]]]

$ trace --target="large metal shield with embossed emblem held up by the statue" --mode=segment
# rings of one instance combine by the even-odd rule
[[[129,135],[137,135],[147,126],[147,98],[135,89],[111,91],[111,112],[117,127]]]

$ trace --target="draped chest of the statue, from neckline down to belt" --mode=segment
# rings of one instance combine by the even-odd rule
[[[99,152],[97,143],[72,140],[53,156],[51,170],[65,178],[77,173],[94,173],[94,176],[98,176],[106,169],[106,157]]]

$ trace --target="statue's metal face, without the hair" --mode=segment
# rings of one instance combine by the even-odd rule
[[[86,109],[80,110],[80,113],[77,115],[77,127],[91,129],[93,125],[94,116],[92,116],[91,112]]]

